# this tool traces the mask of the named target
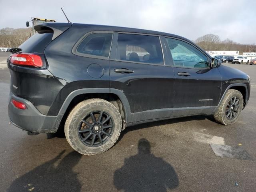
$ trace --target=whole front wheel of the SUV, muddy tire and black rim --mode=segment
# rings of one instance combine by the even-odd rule
[[[234,102],[233,104],[231,100],[232,102]],[[244,104],[244,98],[241,92],[235,89],[228,90],[218,110],[214,114],[214,119],[216,120],[216,122],[223,125],[234,124],[238,120],[242,112],[242,109],[244,106],[243,104]]]

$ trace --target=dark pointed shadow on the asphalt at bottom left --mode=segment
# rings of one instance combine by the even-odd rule
[[[81,184],[72,168],[82,155],[73,151],[60,160],[64,152],[65,150],[52,160],[14,180],[8,192],[79,192]],[[58,160],[60,160],[59,164],[54,166]]]

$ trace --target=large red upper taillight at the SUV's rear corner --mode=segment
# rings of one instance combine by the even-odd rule
[[[42,67],[43,61],[39,55],[32,53],[17,53],[12,54],[11,63],[14,65]]]

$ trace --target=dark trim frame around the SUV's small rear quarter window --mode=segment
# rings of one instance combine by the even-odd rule
[[[112,39],[111,39],[111,43],[110,43],[110,49],[109,49],[109,53],[108,56],[97,56],[97,55],[91,55],[91,54],[86,54],[86,53],[80,53],[77,51],[78,46],[81,44],[81,42],[88,37],[90,34],[96,34],[96,33],[110,33],[112,34]],[[112,47],[112,43],[113,43],[113,35],[114,35],[114,31],[90,31],[86,34],[84,34],[73,46],[72,48],[72,53],[74,55],[77,56],[82,56],[82,57],[88,57],[88,58],[96,58],[96,59],[104,59],[104,60],[109,60],[109,56],[110,56],[110,51],[111,51],[111,47]]]

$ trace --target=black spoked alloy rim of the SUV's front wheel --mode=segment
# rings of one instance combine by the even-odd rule
[[[228,105],[226,106],[226,118],[228,120],[232,120],[236,117],[236,115],[238,114],[240,108],[240,100],[239,98],[232,97],[229,102]]]

